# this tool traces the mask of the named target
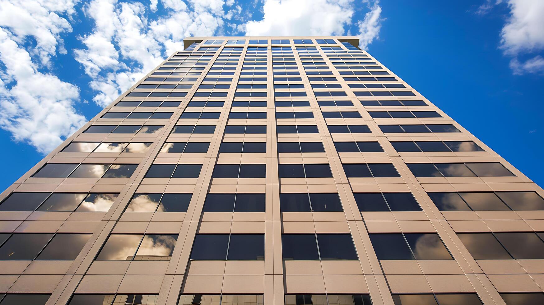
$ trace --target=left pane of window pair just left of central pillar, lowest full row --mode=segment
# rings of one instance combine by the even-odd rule
[[[191,251],[193,260],[225,260],[228,234],[196,234]]]

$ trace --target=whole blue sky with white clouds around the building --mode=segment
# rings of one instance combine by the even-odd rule
[[[195,35],[357,35],[544,185],[544,1],[0,0],[4,189]]]

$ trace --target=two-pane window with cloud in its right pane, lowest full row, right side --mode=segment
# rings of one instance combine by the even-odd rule
[[[436,233],[369,234],[379,260],[453,259]]]

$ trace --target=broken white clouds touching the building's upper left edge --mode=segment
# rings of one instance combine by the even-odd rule
[[[156,20],[136,2],[93,0],[85,6],[95,26],[81,37],[86,48],[74,52],[92,78],[98,105],[108,105],[165,57],[183,50],[183,38],[213,35],[223,25],[224,1],[190,3],[194,10],[181,0],[163,0],[168,13]]]

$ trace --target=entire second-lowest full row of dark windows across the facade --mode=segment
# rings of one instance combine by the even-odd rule
[[[308,164],[309,165],[309,164]],[[370,164],[372,165],[372,164]],[[440,211],[544,210],[536,192],[431,192]],[[118,194],[14,192],[0,204],[0,211],[107,212]],[[192,194],[137,193],[127,212],[186,212]],[[421,211],[411,193],[354,193],[362,212]],[[264,194],[208,194],[205,212],[264,212]],[[282,212],[343,211],[337,193],[281,193]]]

